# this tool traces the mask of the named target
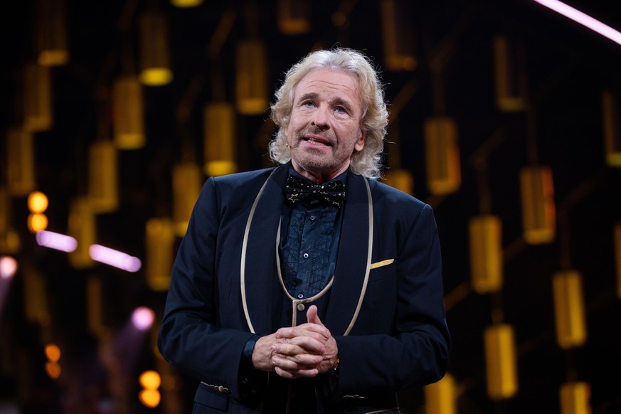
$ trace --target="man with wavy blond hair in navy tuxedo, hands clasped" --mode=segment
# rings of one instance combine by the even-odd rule
[[[388,112],[365,55],[310,53],[275,96],[280,165],[206,181],[159,349],[201,381],[193,413],[398,413],[447,367],[432,210],[376,180]]]

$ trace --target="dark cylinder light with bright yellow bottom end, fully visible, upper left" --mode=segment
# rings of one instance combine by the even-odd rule
[[[168,20],[155,9],[144,11],[140,25],[139,80],[147,86],[168,85],[173,80],[170,65]]]

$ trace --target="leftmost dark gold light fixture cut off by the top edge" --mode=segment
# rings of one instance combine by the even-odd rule
[[[67,4],[65,0],[37,0],[36,53],[42,66],[60,66],[69,61]]]

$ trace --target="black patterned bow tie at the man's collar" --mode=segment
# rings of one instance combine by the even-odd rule
[[[298,201],[317,199],[328,206],[341,207],[345,201],[345,183],[341,180],[325,184],[312,184],[297,176],[289,176],[285,186],[287,202],[294,206]]]

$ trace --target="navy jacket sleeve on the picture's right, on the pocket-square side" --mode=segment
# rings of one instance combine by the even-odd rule
[[[367,304],[368,308],[363,304],[359,317],[371,319],[375,325],[336,337],[340,359],[336,395],[424,386],[440,380],[447,369],[450,335],[432,209],[424,205],[413,220],[398,218],[396,223],[385,229],[396,240],[396,267],[386,266],[383,271],[389,276],[376,282],[377,287],[369,287],[375,289],[376,303]],[[372,302],[371,297],[367,299]],[[377,329],[378,319],[392,320]]]

